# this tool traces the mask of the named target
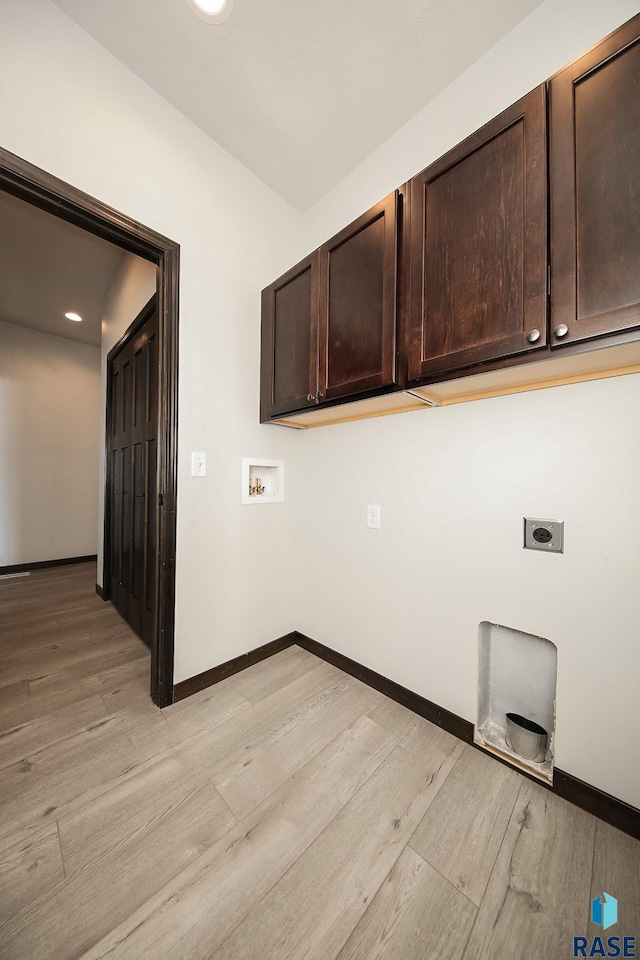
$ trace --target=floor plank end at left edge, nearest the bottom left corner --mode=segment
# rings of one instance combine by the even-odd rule
[[[0,841],[0,924],[63,879],[55,823]]]

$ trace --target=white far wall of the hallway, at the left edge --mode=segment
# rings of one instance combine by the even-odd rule
[[[0,566],[96,552],[100,350],[0,322]]]

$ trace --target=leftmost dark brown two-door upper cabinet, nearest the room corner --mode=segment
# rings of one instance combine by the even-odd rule
[[[395,383],[398,193],[262,292],[260,418]]]

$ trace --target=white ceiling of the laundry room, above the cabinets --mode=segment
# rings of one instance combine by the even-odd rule
[[[542,0],[54,2],[304,212]]]

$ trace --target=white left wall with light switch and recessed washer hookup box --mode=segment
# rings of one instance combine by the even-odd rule
[[[260,290],[301,221],[47,0],[0,5],[0,143],[181,245],[175,680],[288,632],[292,498],[241,503],[242,457],[284,459],[260,426]],[[189,475],[191,450],[209,456]],[[97,483],[96,483],[97,489]]]

